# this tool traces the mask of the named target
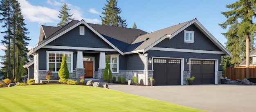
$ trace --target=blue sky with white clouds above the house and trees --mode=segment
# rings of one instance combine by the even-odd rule
[[[85,20],[88,23],[101,24],[103,7],[106,0],[18,0],[20,2],[25,27],[28,28],[30,37],[29,49],[38,43],[40,25],[56,26],[61,20],[58,11],[66,2],[70,14],[75,20]],[[218,23],[225,22],[227,18],[221,11],[229,11],[225,6],[236,0],[118,0],[117,7],[121,8],[121,17],[126,19],[128,28],[133,23],[137,29],[153,32],[166,27],[177,25],[197,18],[197,20],[225,46],[227,39],[220,33],[227,32]],[[2,17],[0,17],[2,18]],[[0,23],[2,26],[2,23]],[[0,28],[0,31],[6,29]],[[0,34],[3,40],[4,34]],[[0,49],[4,45],[0,44]],[[0,50],[0,55],[4,52]],[[2,61],[2,60],[0,60]],[[0,65],[2,66],[2,65]]]

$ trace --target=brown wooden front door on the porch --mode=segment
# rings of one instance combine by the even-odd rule
[[[91,61],[84,61],[83,67],[85,69],[84,76],[85,78],[92,78],[93,77],[93,62]]]

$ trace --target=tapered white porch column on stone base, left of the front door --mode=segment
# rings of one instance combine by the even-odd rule
[[[83,52],[77,52],[76,56],[76,79],[80,79],[80,76],[84,76],[85,71],[83,67]]]

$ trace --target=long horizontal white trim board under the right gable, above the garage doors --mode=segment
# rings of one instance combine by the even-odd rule
[[[191,52],[191,53],[204,53],[204,54],[225,54],[220,51],[204,51],[204,50],[193,50],[193,49],[175,49],[175,48],[163,48],[163,47],[152,47],[150,50],[156,51],[168,51],[168,52]]]

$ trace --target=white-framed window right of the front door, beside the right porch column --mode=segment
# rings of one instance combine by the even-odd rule
[[[119,72],[119,55],[106,55],[112,73]]]

